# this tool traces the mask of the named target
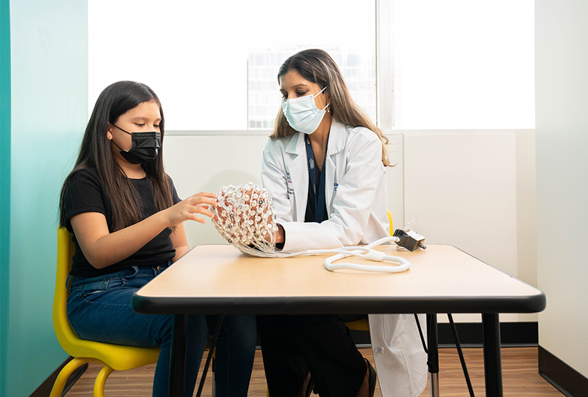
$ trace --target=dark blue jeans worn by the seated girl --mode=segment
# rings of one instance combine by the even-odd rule
[[[163,272],[170,263],[157,267],[132,266],[99,277],[73,277],[68,298],[68,318],[77,334],[86,340],[118,345],[161,347],[153,396],[167,396],[171,351],[171,315],[135,313],[131,296]],[[194,384],[207,335],[215,331],[217,316],[188,316],[185,396]],[[215,354],[217,396],[247,396],[256,345],[255,316],[225,316]]]

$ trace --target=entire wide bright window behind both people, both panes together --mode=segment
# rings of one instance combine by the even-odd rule
[[[382,120],[401,130],[534,128],[532,0],[89,0],[90,107],[132,79],[160,96],[168,130],[268,129],[279,65],[318,47],[376,120],[376,3],[394,15],[393,45],[379,47],[389,84],[380,95],[394,89]]]

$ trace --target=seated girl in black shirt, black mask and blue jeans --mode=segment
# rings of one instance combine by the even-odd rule
[[[171,316],[135,313],[130,298],[189,250],[183,222],[205,223],[216,197],[203,192],[180,201],[164,172],[163,139],[162,107],[148,86],[118,81],[105,88],[63,184],[59,221],[74,234],[72,327],[88,340],[161,346],[153,396],[167,396]],[[186,396],[216,322],[216,316],[189,316]],[[247,396],[255,344],[253,316],[225,317],[216,350],[217,396]]]

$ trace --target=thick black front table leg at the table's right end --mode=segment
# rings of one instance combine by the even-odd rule
[[[500,320],[498,313],[482,313],[486,397],[502,397]]]

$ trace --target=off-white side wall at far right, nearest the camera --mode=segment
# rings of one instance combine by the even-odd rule
[[[588,2],[535,1],[539,344],[588,376]]]

